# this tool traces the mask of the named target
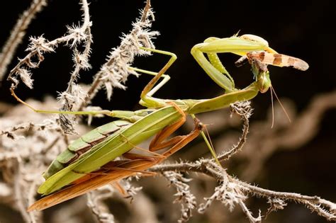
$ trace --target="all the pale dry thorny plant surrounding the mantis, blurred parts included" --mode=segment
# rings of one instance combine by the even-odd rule
[[[150,1],[147,0],[145,8],[140,12],[141,17],[133,23],[133,29],[130,33],[123,36],[121,44],[111,50],[107,61],[94,76],[92,83],[88,86],[77,84],[77,79],[79,79],[82,70],[91,68],[89,56],[92,42],[89,4],[86,0],[82,0],[80,4],[82,5],[83,15],[82,25],[68,26],[68,32],[54,40],[47,40],[43,35],[37,38],[30,37],[26,57],[19,59],[18,64],[9,72],[8,80],[12,82],[12,92],[21,82],[29,88],[33,88],[33,79],[31,78],[33,69],[39,67],[46,53],[56,52],[59,45],[65,45],[72,50],[74,69],[70,74],[66,91],[60,93],[57,102],[51,98],[47,98],[43,103],[28,101],[34,108],[47,110],[58,107],[60,110],[92,110],[93,108],[89,106],[89,103],[101,88],[105,88],[109,100],[113,88],[125,89],[124,84],[128,76],[130,74],[138,75],[128,67],[136,56],[148,55],[147,52],[140,50],[139,46],[154,48],[152,38],[158,35],[158,32],[150,30],[154,16],[150,8]],[[4,76],[7,65],[13,58],[15,49],[25,34],[23,30],[26,30],[35,13],[45,5],[46,1],[32,1],[30,8],[23,13],[15,28],[13,28],[11,36],[0,55],[0,77]],[[269,122],[254,123],[250,127],[249,120],[250,115],[252,115],[252,108],[249,102],[231,105],[232,113],[237,114],[242,119],[242,135],[234,147],[228,149],[228,151],[223,149],[218,159],[220,161],[247,159],[242,178],[245,181],[252,181],[261,170],[264,162],[276,149],[280,147],[291,149],[294,145],[303,144],[313,137],[315,131],[318,130],[318,123],[323,112],[329,108],[335,108],[335,101],[335,92],[315,98],[310,104],[310,108],[294,119],[294,125],[277,125],[278,128],[275,127],[269,132],[264,132],[265,135],[260,135],[257,129],[262,127],[261,125],[269,126]],[[67,147],[69,140],[71,140],[67,134],[84,132],[87,127],[77,125],[78,120],[68,117],[68,115],[58,115],[50,118],[49,115],[33,113],[21,104],[9,110],[10,112],[4,113],[0,118],[1,204],[6,204],[14,210],[18,210],[25,222],[41,222],[43,220],[42,212],[26,212],[28,205],[35,200],[37,186],[43,182],[41,173],[55,159],[55,156]],[[281,122],[282,118],[276,118],[276,120]],[[74,127],[75,125],[76,127]],[[247,141],[249,131],[251,134]],[[277,133],[275,134],[275,132]],[[232,142],[237,136],[221,136],[220,138],[225,142],[215,142],[220,144],[216,147],[223,148],[223,144]],[[261,138],[264,139],[263,142],[261,142]],[[242,149],[245,142],[249,143]],[[159,175],[167,179],[171,187],[177,191],[175,194],[177,199],[174,202],[181,205],[179,222],[188,221],[193,212],[206,213],[211,205],[216,205],[215,200],[218,200],[230,211],[233,211],[236,207],[240,208],[250,222],[261,222],[262,218],[269,215],[270,212],[284,209],[288,202],[298,202],[327,220],[336,220],[335,203],[318,196],[276,192],[245,183],[228,174],[227,170],[218,166],[213,159],[159,164],[150,168],[149,171],[160,173]],[[217,182],[217,186],[212,190],[212,195],[208,198],[204,198],[204,195],[200,193],[197,193],[197,195],[192,193],[189,185],[192,179],[203,181],[204,175],[210,176]],[[131,181],[134,178],[138,177],[128,178],[121,182],[123,190],[133,200],[131,204],[121,194],[116,193],[116,187],[113,187],[113,185],[106,185],[99,190],[88,193],[86,196],[87,207],[98,222],[116,221],[108,208],[108,202],[106,202],[111,197],[119,200],[132,212],[133,217],[129,222],[159,222],[155,205],[143,193],[142,188],[135,186],[138,183]],[[155,181],[158,181],[158,179],[155,179]],[[159,188],[160,184],[157,187]],[[161,187],[161,190],[164,193],[163,190],[166,189]],[[198,197],[204,198],[204,201],[200,202]],[[259,213],[254,217],[247,207],[247,198],[251,197],[265,198],[269,204],[269,210],[263,214],[259,210]],[[86,205],[83,205],[82,199],[63,205],[50,217],[50,222],[60,220],[81,222],[82,219],[79,216],[76,217],[76,215],[85,212]],[[62,219],[60,219],[61,215],[58,215],[58,213],[62,213]],[[56,220],[56,218],[58,219]]]

